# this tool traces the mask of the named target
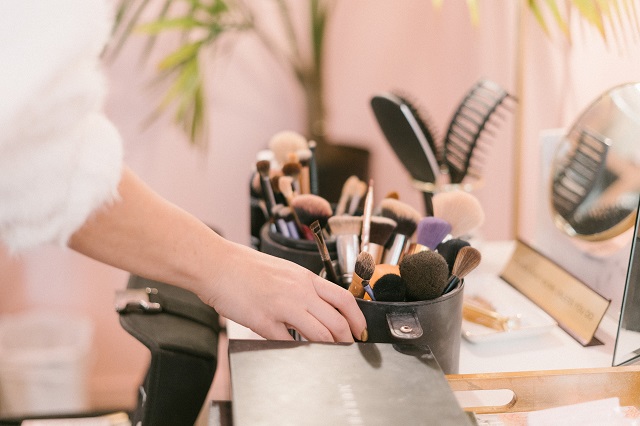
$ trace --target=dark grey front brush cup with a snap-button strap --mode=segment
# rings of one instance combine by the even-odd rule
[[[335,265],[336,272],[339,267]],[[320,271],[324,277],[324,270]],[[368,342],[429,346],[445,374],[458,374],[464,280],[449,293],[418,302],[356,299],[367,320]]]

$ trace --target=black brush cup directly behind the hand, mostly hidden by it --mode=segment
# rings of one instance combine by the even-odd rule
[[[327,249],[331,259],[336,259],[336,243],[327,240]],[[270,224],[265,224],[260,229],[260,251],[272,256],[280,257],[304,266],[318,274],[324,268],[318,246],[315,241],[294,239],[274,232]]]

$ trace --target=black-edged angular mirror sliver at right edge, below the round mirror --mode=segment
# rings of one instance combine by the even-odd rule
[[[638,235],[638,220],[636,220],[618,335],[613,352],[614,366],[629,364],[640,357],[640,246],[638,238],[640,236]]]

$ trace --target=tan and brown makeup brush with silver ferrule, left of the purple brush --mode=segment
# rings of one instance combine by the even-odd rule
[[[397,224],[396,230],[387,243],[382,263],[397,265],[422,215],[405,202],[385,198],[380,203],[380,216],[392,219]]]

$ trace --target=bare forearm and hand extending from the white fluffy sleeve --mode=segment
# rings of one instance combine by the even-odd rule
[[[196,293],[268,339],[366,340],[353,296],[311,271],[225,240],[161,198],[126,167],[118,200],[94,213],[69,246],[98,261]]]

